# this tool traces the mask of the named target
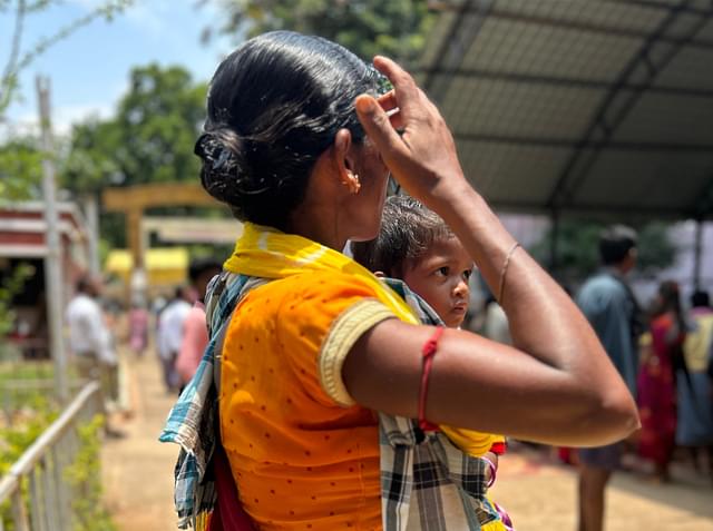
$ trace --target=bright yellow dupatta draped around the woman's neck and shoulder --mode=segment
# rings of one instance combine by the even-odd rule
[[[233,255],[223,267],[235,274],[261,278],[286,278],[306,271],[335,271],[355,275],[373,288],[377,298],[404,323],[420,324],[411,307],[369,269],[350,257],[294,234],[245,223]],[[441,425],[446,435],[463,452],[481,456],[499,435]]]

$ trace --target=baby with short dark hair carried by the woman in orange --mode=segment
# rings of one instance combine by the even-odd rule
[[[468,311],[468,281],[473,262],[434,212],[408,196],[389,197],[377,239],[352,243],[351,250],[358,263],[377,276],[387,277],[385,282],[397,287],[402,296],[404,291],[390,279],[403,281],[408,289],[421,297],[422,301],[416,304],[420,306],[421,314],[432,316],[429,321],[440,321],[451,328],[460,327]],[[413,305],[408,297],[407,302]],[[439,427],[461,451],[485,459],[489,464],[490,480],[495,479],[498,455],[506,449],[502,435],[445,425]],[[501,514],[501,520],[489,522],[481,529],[510,529],[506,514]]]

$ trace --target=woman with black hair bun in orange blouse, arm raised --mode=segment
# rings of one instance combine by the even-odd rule
[[[436,106],[395,62],[373,67],[277,31],[213,78],[201,179],[244,233],[208,288],[212,342],[162,435],[183,449],[184,525],[479,529],[487,474],[439,425],[559,445],[638,425],[586,319],[466,180]],[[390,173],[462,242],[514,346],[420,325],[340,253],[377,236]]]

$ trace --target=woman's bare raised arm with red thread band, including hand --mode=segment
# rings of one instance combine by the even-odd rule
[[[356,110],[392,175],[448,223],[496,294],[508,262],[500,304],[515,347],[446,331],[428,420],[553,444],[625,437],[638,425],[636,406],[586,318],[524,249],[512,252],[512,236],[463,177],[448,127],[411,76],[385,58],[374,65],[394,90],[379,101],[360,96]],[[431,334],[395,319],[374,326],[344,363],[350,394],[364,406],[416,417],[421,347]]]

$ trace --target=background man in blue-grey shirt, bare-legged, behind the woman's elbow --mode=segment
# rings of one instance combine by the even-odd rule
[[[639,309],[625,276],[636,264],[636,233],[615,225],[599,236],[603,268],[579,291],[576,302],[632,394],[636,392]],[[580,449],[579,531],[604,529],[604,493],[618,468],[623,442]]]

